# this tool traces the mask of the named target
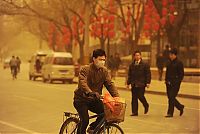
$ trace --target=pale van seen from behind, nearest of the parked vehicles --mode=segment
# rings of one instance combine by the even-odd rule
[[[73,82],[74,64],[71,53],[53,52],[46,56],[44,65],[42,66],[43,82],[62,81],[65,83]]]

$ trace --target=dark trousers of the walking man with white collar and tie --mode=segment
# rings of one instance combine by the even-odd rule
[[[132,92],[132,113],[138,114],[138,99],[145,108],[149,106],[144,96],[145,87],[132,87],[131,92]]]

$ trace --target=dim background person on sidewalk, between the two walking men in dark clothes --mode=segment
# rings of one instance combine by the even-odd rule
[[[162,53],[159,53],[159,55],[156,58],[156,66],[158,68],[158,80],[162,81],[163,68],[165,66],[165,59]]]

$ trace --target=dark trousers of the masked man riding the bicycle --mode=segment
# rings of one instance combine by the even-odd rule
[[[89,124],[88,110],[96,114],[101,114],[104,112],[103,103],[100,100],[93,102],[74,101],[74,107],[76,108],[80,116],[80,124],[78,126],[77,134],[86,134],[86,129]],[[90,127],[92,129],[95,129],[95,127],[99,124],[102,118],[103,116],[97,117],[96,121],[90,124]]]

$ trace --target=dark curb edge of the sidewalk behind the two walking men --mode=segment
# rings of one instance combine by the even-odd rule
[[[117,87],[117,86],[116,86],[116,87]],[[118,88],[119,90],[127,90],[127,91],[130,91],[129,89],[123,88],[123,87],[117,87],[117,88]],[[149,90],[146,90],[145,92],[148,93],[148,94],[156,94],[156,95],[163,95],[163,96],[166,96],[166,93],[165,93],[165,92],[149,91]],[[178,97],[200,100],[200,96],[197,96],[197,95],[189,95],[189,94],[181,94],[181,93],[180,93],[180,94],[178,94]]]

